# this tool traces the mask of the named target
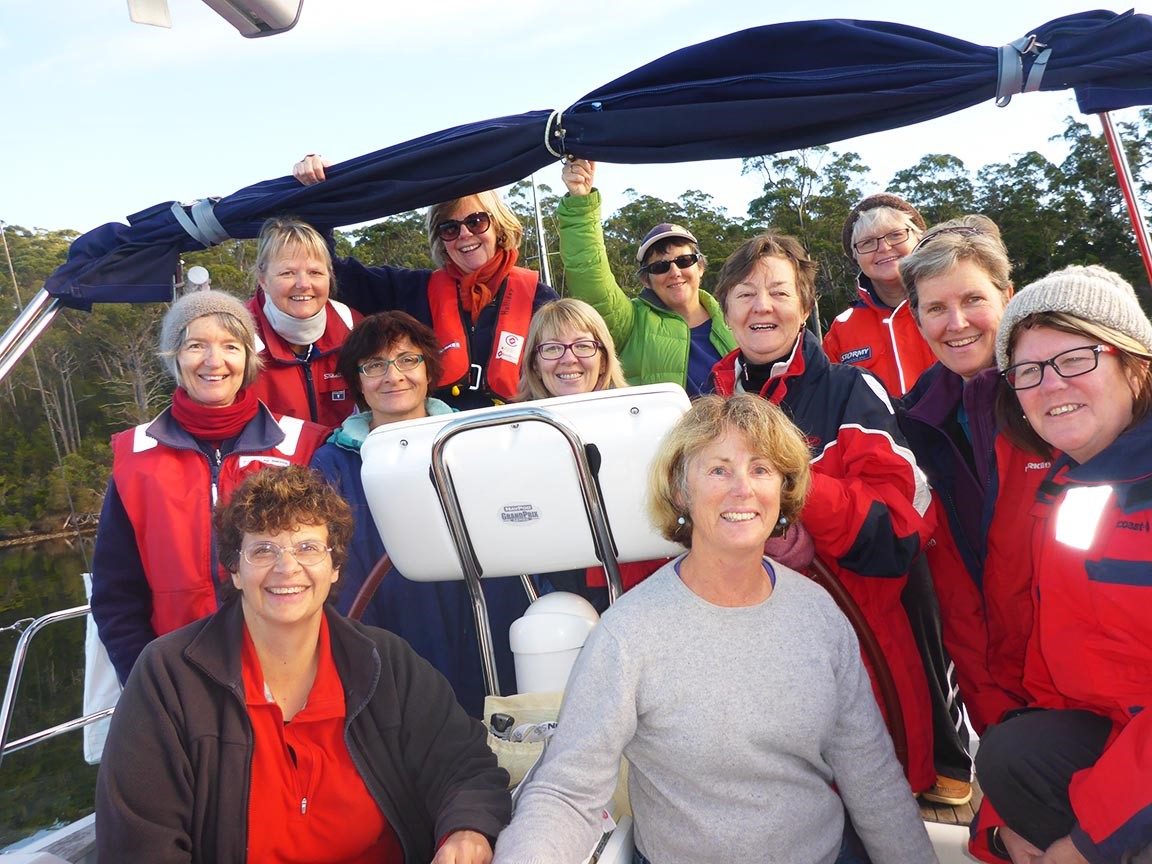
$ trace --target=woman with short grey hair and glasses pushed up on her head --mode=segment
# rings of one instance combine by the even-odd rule
[[[1022,483],[996,438],[996,327],[1013,295],[1011,263],[995,223],[968,215],[930,229],[901,259],[900,275],[920,334],[939,358],[897,403],[900,427],[932,485],[937,530],[926,559],[961,696],[983,734],[1023,705],[1020,687],[1002,687],[988,660],[985,609],[995,606],[995,615],[1001,605],[996,596],[986,604],[984,591],[985,501],[995,498],[987,493],[1000,478],[996,454],[1013,490],[1034,493],[1043,473],[1030,472],[1030,486]],[[1026,638],[1031,615],[1021,617],[1017,631]]]

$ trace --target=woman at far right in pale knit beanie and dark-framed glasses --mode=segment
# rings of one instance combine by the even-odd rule
[[[1074,266],[1005,310],[1001,429],[1046,467],[1023,538],[1034,601],[1025,712],[992,727],[977,774],[1013,861],[1152,851],[1152,323],[1132,287]],[[990,550],[990,568],[993,551]]]

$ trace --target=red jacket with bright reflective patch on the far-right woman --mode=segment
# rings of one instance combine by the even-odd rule
[[[1033,706],[1112,720],[1104,755],[1073,776],[1073,842],[1132,861],[1152,838],[1152,419],[1082,465],[1058,457],[1031,515],[1024,687]]]

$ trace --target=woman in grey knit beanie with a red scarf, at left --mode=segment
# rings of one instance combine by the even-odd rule
[[[176,391],[156,419],[113,435],[92,561],[92,616],[121,682],[153,638],[215,612],[213,505],[266,465],[306,465],[327,434],[257,399],[256,327],[229,294],[173,303],[159,356]]]

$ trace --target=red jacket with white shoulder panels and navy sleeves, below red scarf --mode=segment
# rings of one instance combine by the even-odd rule
[[[265,465],[306,465],[327,430],[259,407],[210,460],[165,410],[113,435],[112,479],[92,562],[92,616],[127,680],[144,645],[217,609],[212,508]]]

